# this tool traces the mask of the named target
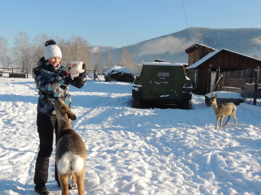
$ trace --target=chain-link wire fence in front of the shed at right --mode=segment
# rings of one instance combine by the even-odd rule
[[[219,91],[241,94],[247,104],[261,106],[261,75],[259,67],[253,69],[225,71]]]

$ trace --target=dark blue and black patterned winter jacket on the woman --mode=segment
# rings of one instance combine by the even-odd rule
[[[41,114],[55,116],[55,98],[61,97],[64,103],[71,107],[71,97],[68,93],[69,84],[77,88],[86,85],[85,73],[80,73],[74,79],[64,74],[65,67],[60,64],[54,67],[42,57],[33,70],[36,87],[39,90],[37,112]]]

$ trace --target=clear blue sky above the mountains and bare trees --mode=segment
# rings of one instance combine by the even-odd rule
[[[260,0],[183,0],[189,27],[260,28]],[[1,0],[0,36],[78,35],[123,47],[188,27],[182,0]]]

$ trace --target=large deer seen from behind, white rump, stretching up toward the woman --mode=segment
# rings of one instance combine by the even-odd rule
[[[55,163],[62,195],[69,193],[68,175],[73,190],[78,188],[79,195],[83,195],[87,151],[81,137],[72,129],[71,120],[76,120],[76,116],[59,97],[55,101],[55,113],[58,121]]]

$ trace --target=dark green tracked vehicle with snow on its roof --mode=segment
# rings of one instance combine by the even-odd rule
[[[144,101],[179,103],[191,109],[192,85],[183,64],[155,60],[144,63],[132,87],[132,107],[140,108]]]

